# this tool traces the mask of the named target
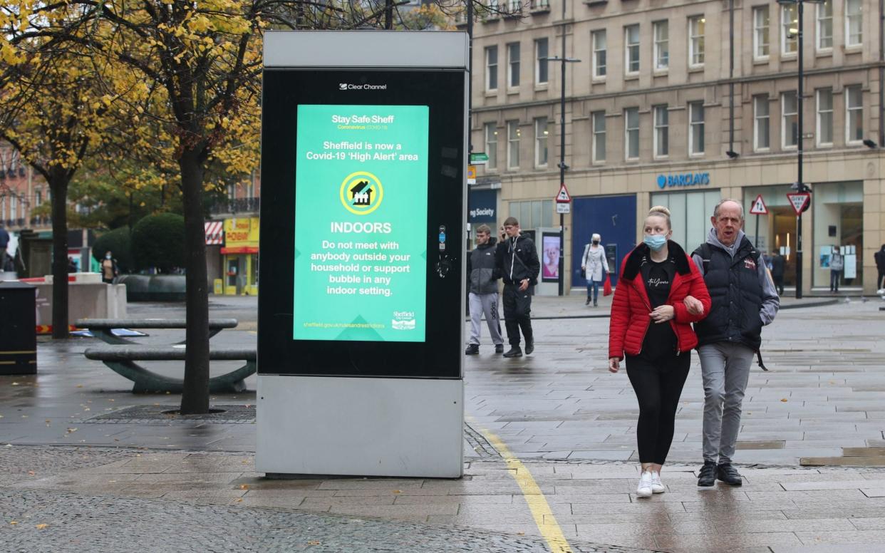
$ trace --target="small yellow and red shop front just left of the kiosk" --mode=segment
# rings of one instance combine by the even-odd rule
[[[258,295],[258,217],[225,219],[221,248],[225,296]]]

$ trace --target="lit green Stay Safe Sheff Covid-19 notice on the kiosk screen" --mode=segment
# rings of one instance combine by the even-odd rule
[[[295,340],[425,340],[428,116],[298,106]]]

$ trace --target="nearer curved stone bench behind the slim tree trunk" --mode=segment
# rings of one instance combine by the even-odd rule
[[[138,365],[137,361],[184,361],[183,347],[119,346],[116,348],[89,348],[84,352],[88,359],[104,362],[115,373],[135,382],[135,394],[165,393],[181,394],[184,379],[176,379],[154,373]],[[246,377],[255,373],[258,354],[256,349],[210,349],[211,361],[243,360],[245,365],[230,373],[209,379],[210,394],[238,393],[245,391]]]

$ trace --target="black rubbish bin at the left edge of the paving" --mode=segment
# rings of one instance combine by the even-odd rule
[[[0,282],[0,374],[37,373],[36,287]]]

